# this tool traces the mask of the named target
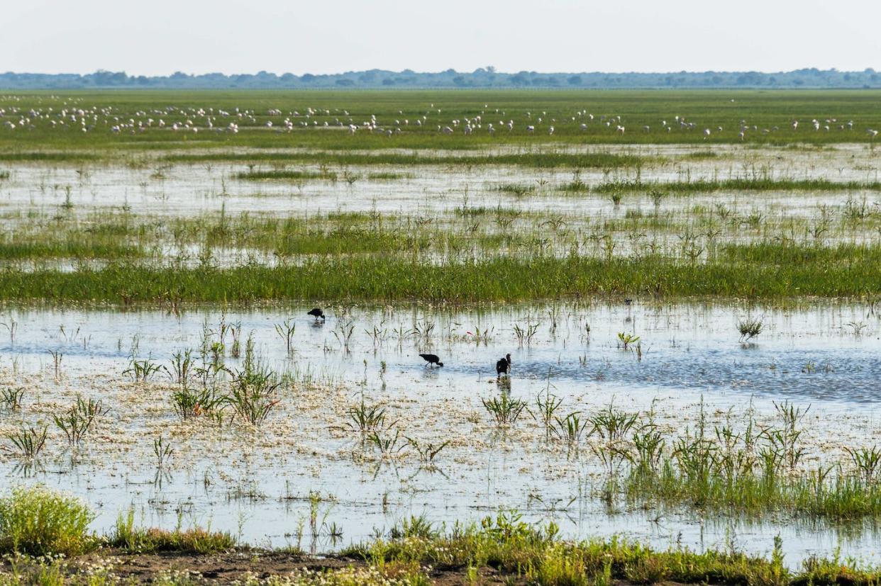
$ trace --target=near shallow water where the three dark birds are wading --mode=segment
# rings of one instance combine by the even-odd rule
[[[401,518],[473,520],[500,506],[534,521],[554,519],[566,535],[622,534],[656,546],[680,543],[724,547],[732,541],[766,553],[783,538],[787,562],[811,553],[881,560],[881,537],[871,525],[841,528],[787,518],[704,517],[692,511],[609,511],[597,496],[596,458],[586,447],[568,452],[546,446],[544,431],[524,415],[507,433],[494,428],[480,398],[498,394],[493,365],[510,352],[512,396],[531,403],[550,388],[566,412],[586,413],[611,402],[626,410],[654,407],[665,429],[693,427],[700,406],[711,421],[738,420],[747,407],[759,421],[773,418],[773,401],[811,405],[805,429],[808,463],[837,461],[844,445],[873,443],[881,430],[877,400],[879,320],[860,304],[809,304],[797,309],[725,304],[501,305],[488,309],[352,307],[329,310],[326,322],[307,307],[233,312],[17,310],[0,322],[18,323],[14,342],[0,327],[0,385],[26,387],[22,414],[4,414],[0,431],[51,423],[51,414],[77,393],[110,407],[76,463],[63,437],[50,429],[43,471],[16,471],[0,452],[7,478],[41,481],[82,495],[99,511],[94,526],[107,531],[133,506],[144,524],[211,524],[252,543],[297,543],[324,551],[389,529]],[[765,330],[749,345],[737,341],[737,319],[761,316]],[[275,325],[292,318],[294,352],[288,357]],[[261,429],[217,429],[207,421],[180,422],[164,374],[139,385],[122,376],[132,348],[137,357],[168,364],[182,348],[200,346],[204,329],[241,321],[241,341],[253,333],[266,363],[295,381]],[[553,323],[556,322],[556,327]],[[353,326],[349,351],[339,341]],[[537,325],[518,343],[514,327]],[[848,324],[852,324],[848,326]],[[855,334],[861,329],[860,335]],[[62,327],[63,326],[63,329]],[[589,333],[588,333],[589,326]],[[375,329],[374,329],[375,328]],[[428,335],[414,333],[428,332]],[[485,332],[485,341],[474,333]],[[378,332],[376,339],[367,331]],[[618,332],[641,336],[641,359],[618,348]],[[334,334],[336,333],[336,335]],[[227,334],[227,350],[231,337]],[[56,380],[49,350],[63,355]],[[426,368],[419,352],[441,355],[444,367]],[[227,351],[227,354],[229,352]],[[234,367],[240,359],[226,357]],[[384,365],[383,365],[384,364]],[[809,368],[808,365],[812,366]],[[402,434],[420,443],[451,444],[438,471],[420,469],[412,450],[381,459],[344,430],[346,408],[381,401]],[[152,439],[174,446],[172,463],[157,472]],[[309,494],[319,529],[311,536]],[[343,530],[333,542],[329,524]],[[298,529],[300,528],[300,529]]]

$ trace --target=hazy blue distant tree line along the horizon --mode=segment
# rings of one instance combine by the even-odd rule
[[[760,73],[758,71],[679,71],[676,73],[500,73],[492,67],[471,72],[446,70],[417,73],[413,70],[348,71],[301,76],[267,71],[255,74],[129,76],[122,71],[98,70],[85,75],[0,73],[0,88],[9,90],[90,88],[156,89],[340,89],[340,88],[877,88],[881,74],[815,68]]]

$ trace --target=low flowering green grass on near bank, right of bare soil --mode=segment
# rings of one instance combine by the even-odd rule
[[[370,563],[418,562],[433,568],[494,568],[500,577],[552,586],[638,583],[714,583],[764,586],[789,584],[872,584],[873,570],[861,571],[842,560],[812,558],[800,570],[784,565],[778,540],[768,557],[735,549],[704,553],[650,547],[613,538],[567,540],[558,527],[530,525],[515,512],[485,517],[479,524],[456,524],[452,531],[418,534],[402,527],[388,539],[354,547],[349,555]],[[840,582],[841,581],[841,582]],[[516,582],[519,583],[519,582]]]

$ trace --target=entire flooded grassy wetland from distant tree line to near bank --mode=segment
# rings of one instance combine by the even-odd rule
[[[0,96],[4,498],[478,583],[881,563],[877,94],[389,95]]]

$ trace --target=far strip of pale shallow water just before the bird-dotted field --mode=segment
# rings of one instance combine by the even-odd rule
[[[746,149],[736,145],[711,145],[719,157],[678,160],[687,153],[706,151],[709,147],[647,146],[603,151],[626,151],[641,156],[669,157],[670,162],[646,165],[640,170],[645,182],[697,179],[728,179],[768,174],[788,179],[828,179],[831,181],[876,181],[878,154],[863,145],[839,145],[834,149],[779,150]],[[596,147],[560,147],[553,151],[590,151]],[[407,151],[411,152],[411,151]],[[443,151],[440,151],[443,152]],[[432,151],[437,155],[439,151]],[[317,172],[318,165],[290,165]],[[258,165],[271,169],[272,165]],[[508,205],[515,201],[524,211],[554,209],[559,213],[612,215],[615,209],[608,197],[571,196],[555,192],[555,187],[574,177],[572,170],[508,168],[498,165],[443,167],[394,165],[332,167],[332,171],[348,171],[361,177],[353,185],[337,181],[309,179],[303,181],[236,179],[247,172],[248,165],[206,163],[165,165],[156,161],[144,169],[120,165],[28,165],[4,164],[10,179],[0,181],[0,204],[6,209],[52,209],[60,206],[70,188],[70,202],[75,211],[128,207],[138,212],[190,216],[207,210],[225,209],[229,213],[260,210],[291,215],[313,215],[329,211],[376,211],[380,213],[426,214],[450,211],[463,206]],[[403,179],[366,179],[379,170],[403,172]],[[633,170],[584,169],[580,179],[595,186],[608,179],[634,179]],[[522,184],[540,187],[540,197],[515,198],[500,193],[498,187]],[[800,216],[813,214],[818,203],[843,204],[848,197],[861,194],[824,192],[792,192],[743,194],[716,193],[719,198],[737,201],[745,207],[763,208],[773,205],[782,213]],[[633,205],[635,198],[630,198]],[[677,199],[679,201],[677,201]],[[662,209],[707,204],[712,198],[695,195],[668,198]],[[647,209],[651,202],[640,201]],[[0,208],[3,209],[3,208]]]

